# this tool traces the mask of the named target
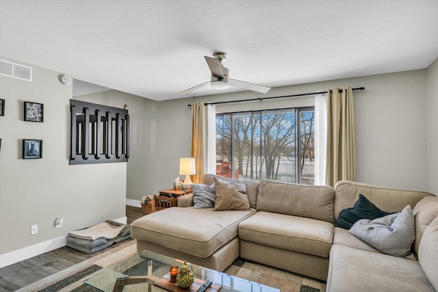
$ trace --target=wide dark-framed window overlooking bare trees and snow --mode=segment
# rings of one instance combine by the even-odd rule
[[[313,185],[314,107],[216,114],[216,174]]]

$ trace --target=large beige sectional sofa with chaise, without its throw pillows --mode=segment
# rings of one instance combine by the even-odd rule
[[[202,183],[211,185],[214,176],[204,175]],[[220,271],[240,256],[327,280],[327,291],[438,289],[438,198],[432,194],[348,181],[333,189],[268,180],[246,181],[246,193],[247,211],[196,209],[193,195],[180,197],[179,207],[131,224],[137,249]],[[352,207],[359,194],[387,212],[411,205],[420,261],[383,254],[334,226],[339,212]]]

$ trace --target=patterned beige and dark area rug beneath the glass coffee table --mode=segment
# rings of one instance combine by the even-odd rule
[[[99,290],[83,284],[83,280],[98,274],[102,268],[112,267],[119,261],[123,261],[125,258],[129,258],[136,253],[136,241],[121,243],[117,248],[113,248],[107,252],[89,258],[87,261],[83,261],[77,265],[69,267],[68,269],[64,269],[52,276],[23,287],[18,291],[96,292]],[[244,261],[241,258],[237,258],[237,260],[234,261],[224,272],[239,278],[253,280],[261,284],[276,287],[281,289],[282,292],[323,292],[326,289],[325,282],[320,282],[281,269],[260,265],[258,263]],[[145,291],[144,288],[145,287],[142,287],[142,284],[130,285],[126,287],[124,291]],[[155,291],[155,289],[153,289],[153,291]]]

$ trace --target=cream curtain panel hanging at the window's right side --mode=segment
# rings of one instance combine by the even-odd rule
[[[353,90],[327,90],[326,185],[338,181],[355,181],[356,145]]]

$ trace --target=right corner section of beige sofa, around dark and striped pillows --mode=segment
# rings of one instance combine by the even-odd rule
[[[438,290],[438,198],[421,191],[340,181],[335,186],[335,220],[363,194],[382,210],[413,207],[414,254],[418,261],[379,252],[344,228],[335,227],[326,291]],[[427,232],[426,232],[427,231]]]

